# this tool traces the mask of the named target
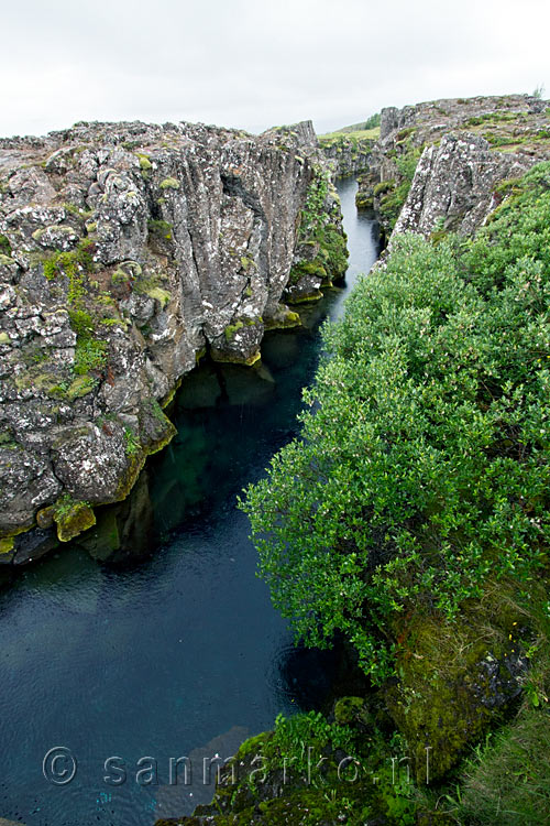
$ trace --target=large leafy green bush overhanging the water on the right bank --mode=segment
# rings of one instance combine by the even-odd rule
[[[527,583],[550,524],[550,164],[468,243],[395,240],[305,393],[302,437],[246,491],[261,575],[296,635],[394,670],[393,622]]]

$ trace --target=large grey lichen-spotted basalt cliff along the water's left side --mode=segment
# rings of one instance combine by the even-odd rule
[[[310,123],[0,141],[0,561],[127,496],[202,352],[251,363],[266,326],[295,323],[280,298],[322,164]]]

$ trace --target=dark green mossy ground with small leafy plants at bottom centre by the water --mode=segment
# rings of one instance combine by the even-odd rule
[[[415,823],[414,785],[374,730],[329,724],[321,715],[277,718],[274,732],[246,740],[221,770],[212,804],[187,826],[364,826],[369,818]],[[400,756],[399,756],[400,757]],[[179,820],[158,820],[156,826]]]

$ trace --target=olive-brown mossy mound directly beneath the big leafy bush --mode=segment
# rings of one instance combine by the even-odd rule
[[[527,661],[513,634],[506,639],[497,626],[484,634],[477,623],[468,613],[455,624],[418,613],[400,626],[399,678],[387,685],[385,699],[419,783],[455,765],[520,693]]]

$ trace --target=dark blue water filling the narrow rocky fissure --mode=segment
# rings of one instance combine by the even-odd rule
[[[0,817],[146,826],[187,814],[213,792],[205,758],[234,753],[279,711],[315,706],[330,688],[331,654],[294,649],[255,577],[235,497],[296,433],[319,324],[338,316],[376,257],[355,189],[339,185],[346,290],[304,311],[302,329],[267,336],[261,367],[205,365],[185,380],[178,434],[134,494],[143,535],[155,537],[148,555],[100,563],[72,544],[0,595]],[[64,785],[43,774],[54,747],[76,760]],[[170,758],[180,757],[193,769],[187,785],[169,783]],[[67,757],[53,764],[61,780],[72,767]]]

